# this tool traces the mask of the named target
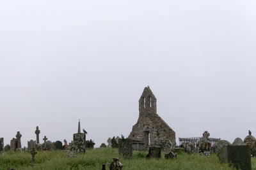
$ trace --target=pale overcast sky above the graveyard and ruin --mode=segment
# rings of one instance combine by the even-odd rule
[[[150,86],[179,137],[256,136],[256,1],[0,1],[0,138],[125,137]]]

